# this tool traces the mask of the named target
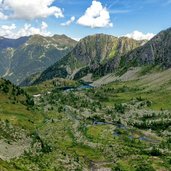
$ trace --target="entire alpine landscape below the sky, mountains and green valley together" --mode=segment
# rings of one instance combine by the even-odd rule
[[[171,28],[0,38],[0,171],[171,171]]]

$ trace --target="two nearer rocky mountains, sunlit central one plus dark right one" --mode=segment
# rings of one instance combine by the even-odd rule
[[[168,68],[171,66],[170,54],[171,29],[160,32],[148,42],[103,34],[88,36],[67,56],[46,69],[35,84],[54,77],[80,79],[88,74],[96,79],[144,65]]]

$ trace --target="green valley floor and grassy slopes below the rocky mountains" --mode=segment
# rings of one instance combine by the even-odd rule
[[[15,86],[33,95],[31,106],[2,80],[0,169],[170,171],[171,70],[144,71],[98,88],[74,90],[80,84],[65,79]]]

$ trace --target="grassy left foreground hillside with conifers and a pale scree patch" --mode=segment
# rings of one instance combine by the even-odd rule
[[[0,79],[0,170],[14,171],[10,161],[31,146],[30,132],[42,116],[34,113],[33,98],[10,81]]]

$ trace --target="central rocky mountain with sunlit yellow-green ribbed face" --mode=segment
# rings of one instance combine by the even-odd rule
[[[45,70],[35,83],[54,77],[78,79],[95,72],[101,65],[141,46],[144,41],[97,34],[81,39],[64,58]]]

